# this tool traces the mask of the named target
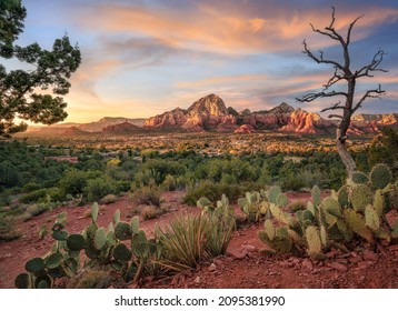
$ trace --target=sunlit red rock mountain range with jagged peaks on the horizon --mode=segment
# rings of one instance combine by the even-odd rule
[[[398,124],[398,114],[358,114],[352,118],[350,134],[377,132],[380,126]],[[243,126],[243,127],[242,127]],[[223,131],[253,132],[257,130],[276,130],[295,133],[334,133],[338,121],[327,120],[314,112],[295,110],[281,103],[271,110],[251,112],[248,109],[239,113],[227,108],[223,100],[209,94],[193,102],[187,110],[177,108],[149,118],[146,129],[182,131]]]

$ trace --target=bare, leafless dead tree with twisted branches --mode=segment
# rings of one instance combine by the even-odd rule
[[[342,98],[336,103],[332,103],[330,107],[325,108],[321,112],[325,111],[338,111],[334,112],[329,116],[329,118],[338,118],[340,119],[340,123],[337,129],[337,137],[336,137],[336,147],[337,151],[344,162],[348,175],[351,177],[354,171],[356,170],[355,161],[351,154],[347,150],[347,130],[351,122],[352,114],[364,104],[364,102],[369,98],[380,98],[380,96],[385,94],[386,91],[381,89],[379,84],[378,88],[372,90],[367,90],[364,94],[357,96],[356,94],[356,86],[357,80],[362,77],[374,77],[372,73],[376,71],[387,72],[387,70],[380,69],[379,64],[382,61],[385,52],[379,50],[375,53],[372,60],[369,64],[364,66],[362,68],[355,70],[351,68],[351,56],[349,52],[349,44],[351,40],[351,31],[356,22],[362,17],[358,17],[355,19],[348,27],[347,34],[344,37],[338,33],[335,29],[335,8],[331,7],[331,22],[328,27],[324,30],[316,29],[312,24],[312,31],[318,32],[322,36],[329,37],[331,40],[338,41],[342,49],[342,60],[332,60],[327,59],[324,56],[322,51],[319,51],[319,54],[314,54],[311,50],[308,48],[306,40],[304,40],[304,53],[307,54],[310,59],[316,61],[317,63],[326,63],[330,64],[335,69],[334,76],[329,79],[329,81],[324,84],[324,89],[317,93],[308,93],[302,98],[296,99],[299,102],[312,102],[320,98],[335,98],[339,97]],[[342,82],[347,88],[344,91],[336,91],[331,90],[330,88],[335,84],[337,86],[338,82]]]

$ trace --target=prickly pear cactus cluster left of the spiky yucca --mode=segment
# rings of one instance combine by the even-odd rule
[[[72,278],[81,265],[82,251],[86,254],[84,269],[110,265],[120,271],[126,281],[155,273],[158,268],[151,259],[159,257],[160,250],[139,229],[138,217],[131,223],[121,222],[118,210],[113,222],[105,229],[97,222],[98,214],[99,207],[94,203],[91,207],[91,224],[81,233],[71,234],[64,230],[66,215],[58,217],[51,228],[56,240],[51,251],[42,258],[30,259],[26,263],[26,272],[16,278],[16,287],[51,288],[58,278]],[[130,248],[126,241],[130,241]]]

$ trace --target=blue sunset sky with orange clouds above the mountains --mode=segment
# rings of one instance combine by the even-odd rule
[[[329,26],[342,34],[357,17],[354,68],[384,50],[388,72],[358,82],[357,96],[378,83],[387,90],[360,112],[398,112],[398,1],[396,0],[22,0],[28,16],[19,44],[50,49],[68,33],[82,53],[71,77],[67,122],[102,117],[148,118],[188,108],[209,93],[240,111],[281,102],[320,112],[336,100],[298,103],[334,73],[302,53],[341,60],[337,42],[312,32]],[[13,64],[14,66],[14,64]]]

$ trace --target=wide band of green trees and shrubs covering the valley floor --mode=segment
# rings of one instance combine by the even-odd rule
[[[387,162],[397,173],[397,131],[387,130],[375,139],[366,153],[356,153],[358,169],[368,172],[375,162]],[[49,156],[73,154],[77,163],[44,160]],[[384,161],[385,160],[385,161]],[[200,197],[231,200],[246,191],[277,184],[283,191],[318,185],[339,189],[345,168],[335,152],[312,152],[304,157],[286,154],[219,156],[195,151],[159,153],[153,150],[71,149],[31,147],[21,141],[0,142],[0,205],[99,201],[107,194],[127,191],[153,192],[185,189],[186,201]]]

